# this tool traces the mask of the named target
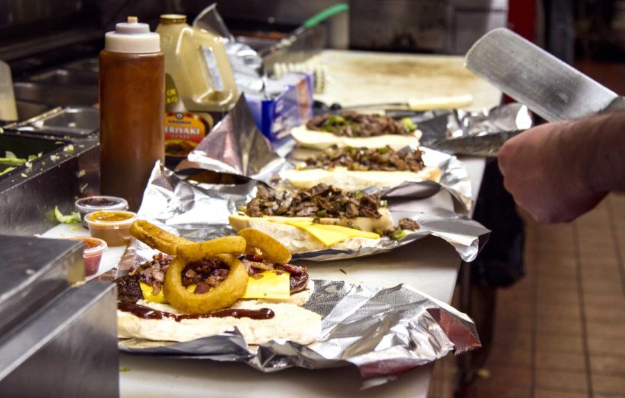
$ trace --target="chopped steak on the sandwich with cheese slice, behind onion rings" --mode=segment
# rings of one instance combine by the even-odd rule
[[[283,202],[288,198],[288,206]],[[247,216],[287,216],[313,218],[342,218],[350,225],[349,218],[380,218],[379,193],[367,195],[361,191],[343,192],[326,184],[317,184],[306,190],[267,191],[258,189],[256,198],[242,209]]]

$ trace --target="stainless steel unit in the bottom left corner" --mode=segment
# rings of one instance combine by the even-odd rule
[[[115,288],[84,275],[82,243],[0,236],[0,395],[117,397]]]

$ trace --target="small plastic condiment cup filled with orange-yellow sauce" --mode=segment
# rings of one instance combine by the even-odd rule
[[[94,211],[85,216],[89,233],[103,239],[109,246],[123,246],[131,239],[130,227],[137,219],[133,211]]]

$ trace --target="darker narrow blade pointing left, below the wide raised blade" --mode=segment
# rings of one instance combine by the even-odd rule
[[[429,147],[453,155],[497,157],[499,149],[508,139],[524,131],[499,131],[484,135],[442,139]]]

